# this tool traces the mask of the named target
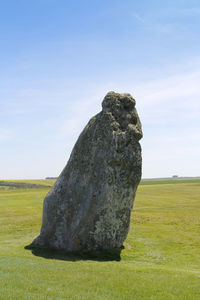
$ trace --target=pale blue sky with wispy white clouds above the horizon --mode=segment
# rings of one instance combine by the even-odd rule
[[[58,176],[108,91],[137,102],[143,177],[200,176],[200,2],[0,1],[0,178]]]

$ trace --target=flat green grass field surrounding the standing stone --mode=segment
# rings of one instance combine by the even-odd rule
[[[120,261],[25,250],[54,181],[12,182],[43,187],[0,186],[0,299],[200,299],[199,179],[141,183]]]

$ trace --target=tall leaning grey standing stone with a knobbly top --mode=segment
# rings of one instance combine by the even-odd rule
[[[130,94],[109,92],[44,199],[33,245],[66,251],[120,248],[141,179],[141,123]]]

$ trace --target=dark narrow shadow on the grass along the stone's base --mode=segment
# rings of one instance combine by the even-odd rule
[[[37,247],[32,244],[25,246],[24,249],[31,250],[35,256],[46,259],[58,259],[65,261],[94,260],[94,261],[120,261],[122,249],[93,251],[93,252],[65,252],[55,249]]]

